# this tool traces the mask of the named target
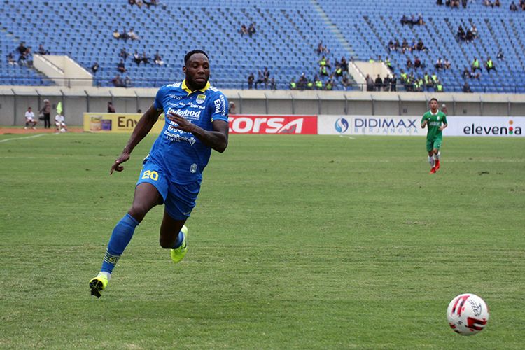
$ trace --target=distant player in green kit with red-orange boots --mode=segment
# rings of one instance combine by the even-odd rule
[[[440,148],[443,138],[443,130],[448,126],[447,116],[437,109],[437,99],[430,99],[430,111],[423,114],[421,127],[424,129],[428,125],[426,132],[426,151],[428,152],[428,162],[430,163],[430,174],[434,174],[440,169]]]

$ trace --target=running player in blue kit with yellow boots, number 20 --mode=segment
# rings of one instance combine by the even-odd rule
[[[166,121],[158,139],[144,159],[135,187],[133,204],[120,219],[109,239],[99,274],[90,280],[91,294],[100,297],[111,278],[133,232],[144,216],[158,204],[165,204],[160,225],[160,246],[171,249],[174,263],[188,251],[186,220],[195,207],[202,171],[211,150],[224,152],[228,146],[228,100],[209,82],[206,52],[193,50],[184,57],[186,79],[160,87],[153,105],[140,118],[111,172],[122,172],[123,162],[165,113]]]

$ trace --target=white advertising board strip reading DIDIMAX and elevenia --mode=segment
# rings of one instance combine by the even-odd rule
[[[422,116],[318,116],[321,135],[426,136]],[[447,116],[447,136],[522,137],[525,117]]]

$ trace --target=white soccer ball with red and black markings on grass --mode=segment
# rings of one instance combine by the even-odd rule
[[[489,321],[489,307],[477,295],[461,294],[450,302],[447,319],[454,332],[461,335],[475,335],[481,332]]]

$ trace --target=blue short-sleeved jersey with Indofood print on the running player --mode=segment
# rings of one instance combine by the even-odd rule
[[[174,112],[190,123],[211,131],[211,122],[224,120],[228,123],[228,100],[224,94],[209,83],[202,90],[191,91],[182,83],[160,87],[153,104],[167,115]],[[165,170],[169,179],[181,185],[202,180],[202,171],[208,164],[211,148],[195,135],[175,129],[176,123],[165,118],[165,125],[151,147],[148,158]]]

